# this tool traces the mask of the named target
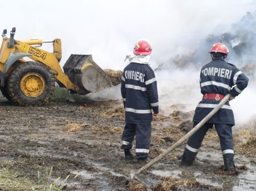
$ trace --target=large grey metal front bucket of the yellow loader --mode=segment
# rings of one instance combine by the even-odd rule
[[[64,73],[79,87],[79,94],[100,92],[112,86],[108,75],[92,59],[92,55],[71,55],[64,64]]]

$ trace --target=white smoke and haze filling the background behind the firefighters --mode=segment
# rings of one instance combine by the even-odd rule
[[[201,99],[200,67],[210,61],[208,44],[212,45],[212,41],[225,32],[237,30],[232,23],[238,23],[247,11],[254,14],[256,10],[253,0],[14,0],[11,5],[0,2],[0,6],[9,7],[2,11],[1,26],[8,30],[15,26],[15,39],[61,38],[61,65],[71,53],[92,54],[100,67],[122,70],[126,53],[132,51],[135,41],[150,39],[153,44],[151,67],[156,69],[160,111],[165,114],[177,103],[181,103],[180,109],[184,111],[195,109]],[[239,33],[237,30],[231,34]],[[210,34],[212,36],[208,36]],[[240,39],[234,38],[232,47],[238,43]],[[49,49],[49,45],[46,48]],[[246,55],[239,56],[232,51],[228,59],[235,65],[248,60]],[[177,63],[182,63],[181,68]],[[248,64],[255,64],[255,60]],[[253,87],[255,84],[232,102],[237,119],[256,113]],[[101,93],[101,97],[94,97],[117,98],[118,91],[115,87]]]

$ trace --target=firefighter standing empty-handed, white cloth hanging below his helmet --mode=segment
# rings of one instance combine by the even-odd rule
[[[138,40],[134,51],[126,56],[130,63],[123,70],[121,94],[125,106],[125,128],[122,146],[125,159],[133,159],[130,149],[136,136],[137,163],[148,163],[151,138],[151,121],[158,114],[158,90],[154,71],[148,65],[152,51],[150,41]]]

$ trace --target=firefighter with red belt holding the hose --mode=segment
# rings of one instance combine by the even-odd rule
[[[249,81],[236,66],[225,62],[224,59],[228,55],[228,48],[224,44],[214,44],[210,49],[210,55],[212,56],[212,61],[204,65],[200,73],[200,88],[203,99],[195,110],[193,117],[194,127],[220,103],[226,94],[230,93],[230,100],[235,98],[246,88]],[[232,136],[234,115],[229,101],[188,139],[181,164],[192,165],[206,132],[213,127],[213,124],[220,138],[225,171],[236,169]]]

